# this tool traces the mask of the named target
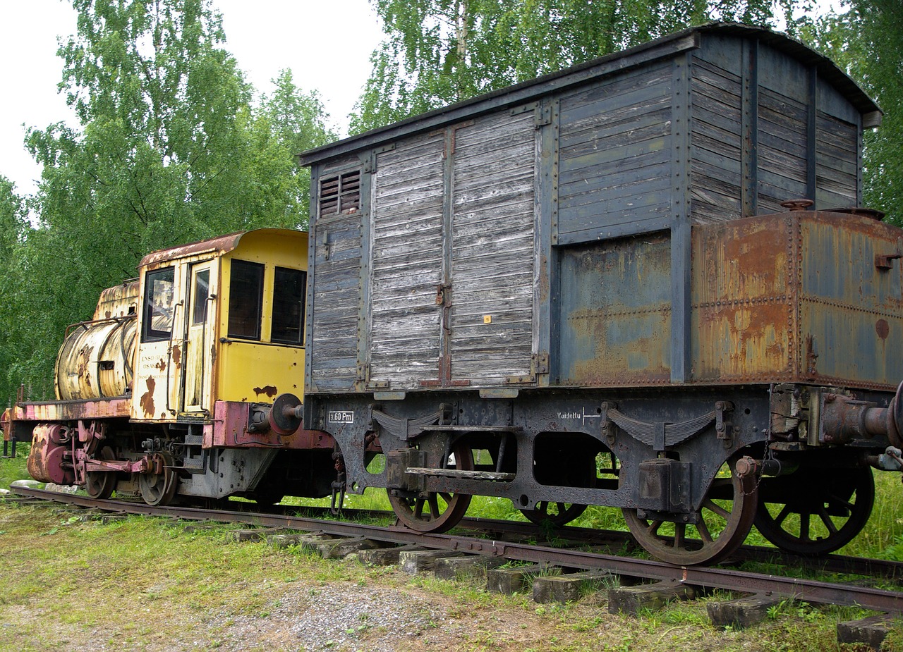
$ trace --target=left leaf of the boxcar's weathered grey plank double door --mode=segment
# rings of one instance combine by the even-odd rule
[[[438,377],[444,133],[377,156],[372,210],[370,378],[392,390]]]

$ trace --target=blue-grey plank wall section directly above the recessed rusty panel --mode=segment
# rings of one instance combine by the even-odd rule
[[[671,62],[561,99],[560,243],[662,228],[671,212]]]

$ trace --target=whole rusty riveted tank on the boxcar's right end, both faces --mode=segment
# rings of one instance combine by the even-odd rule
[[[692,381],[894,389],[900,263],[883,270],[875,259],[903,250],[901,234],[815,211],[694,227]]]

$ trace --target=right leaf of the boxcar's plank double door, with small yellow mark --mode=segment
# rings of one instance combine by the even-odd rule
[[[455,137],[452,379],[474,387],[530,372],[535,133],[531,110],[479,118]]]

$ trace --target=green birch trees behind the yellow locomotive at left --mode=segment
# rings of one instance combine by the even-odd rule
[[[101,289],[144,254],[262,226],[306,227],[310,177],[295,155],[333,138],[315,94],[284,70],[253,103],[224,49],[209,0],[72,0],[78,32],[61,41],[61,90],[79,127],[29,130],[43,166],[23,221],[0,184],[5,352],[0,398],[23,381],[52,397],[66,326],[91,317]],[[5,224],[4,224],[5,225]]]

